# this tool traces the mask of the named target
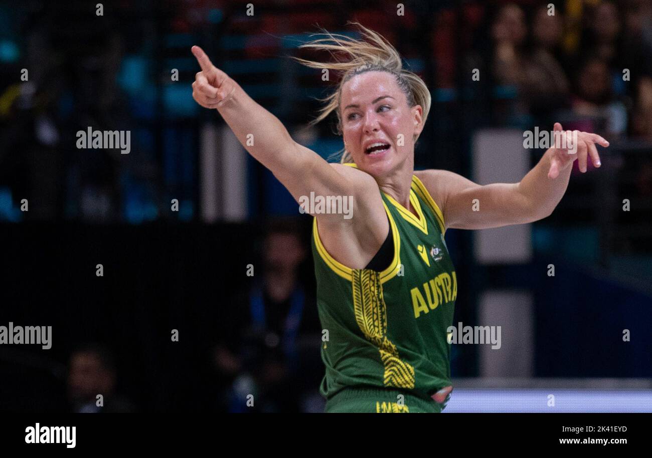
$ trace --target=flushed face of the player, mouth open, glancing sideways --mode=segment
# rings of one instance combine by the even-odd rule
[[[344,146],[359,169],[382,177],[411,158],[413,137],[422,129],[422,107],[408,106],[393,74],[354,76],[340,96]]]

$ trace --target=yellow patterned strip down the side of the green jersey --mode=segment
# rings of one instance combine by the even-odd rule
[[[400,360],[396,345],[387,339],[387,308],[379,272],[353,270],[353,311],[364,337],[378,347],[385,367],[384,385],[414,388],[414,367]]]

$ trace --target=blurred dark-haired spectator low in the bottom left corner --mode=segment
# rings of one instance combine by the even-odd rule
[[[68,399],[76,413],[130,413],[136,409],[125,397],[115,393],[113,354],[98,344],[80,347],[70,355]],[[103,405],[98,406],[97,395]]]

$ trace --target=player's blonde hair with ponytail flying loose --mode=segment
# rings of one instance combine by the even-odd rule
[[[342,86],[346,81],[353,78],[353,76],[370,71],[389,72],[393,74],[398,87],[400,87],[408,100],[408,106],[420,105],[422,107],[421,122],[425,124],[431,102],[430,91],[428,91],[426,83],[413,72],[404,70],[398,51],[383,36],[358,22],[349,23],[357,25],[360,28],[364,40],[355,40],[346,35],[333,35],[322,29],[324,31],[322,35],[328,35],[328,38],[319,38],[318,40],[313,40],[312,42],[299,46],[299,48],[329,51],[333,57],[335,57],[333,51],[344,53],[348,55],[348,59],[344,61],[318,62],[292,57],[292,59],[311,68],[326,68],[327,70],[336,70],[342,73],[342,78],[338,83],[336,91],[325,98],[318,98],[320,102],[325,102],[325,106],[319,109],[319,116],[310,121],[310,126],[314,126],[314,124],[317,124],[330,115],[331,112],[336,111],[337,134],[342,135],[342,119],[340,117]],[[419,134],[415,134],[413,141],[416,142],[418,138]],[[342,164],[353,162],[353,158],[351,158],[351,154],[346,150],[346,147],[338,153],[342,154],[340,160]]]

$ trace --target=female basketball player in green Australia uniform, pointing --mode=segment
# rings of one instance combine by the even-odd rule
[[[331,35],[303,47],[340,52],[342,72],[314,122],[332,111],[344,137],[342,164],[329,164],[296,143],[194,46],[201,72],[198,104],[216,108],[243,147],[270,169],[297,201],[352,196],[352,218],[312,212],[319,318],[328,339],[321,355],[327,412],[439,412],[452,390],[447,328],[457,278],[443,235],[541,220],[563,196],[571,165],[600,166],[600,136],[574,131],[576,149],[551,148],[518,183],[480,186],[445,170],[414,170],[414,145],[430,110],[430,93],[383,37],[357,24],[364,40]],[[561,125],[555,124],[561,131]],[[250,136],[252,134],[253,137]],[[561,132],[571,139],[571,132]],[[252,139],[253,141],[247,141]],[[567,145],[568,146],[568,145]],[[509,167],[509,164],[505,164]],[[480,211],[473,211],[478,199]],[[317,210],[315,209],[317,208]]]

